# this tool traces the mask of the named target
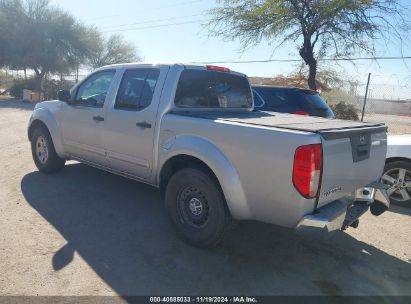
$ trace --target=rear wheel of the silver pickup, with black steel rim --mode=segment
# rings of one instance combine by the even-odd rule
[[[217,245],[231,223],[218,182],[201,169],[175,173],[167,184],[165,205],[178,233],[197,247]]]

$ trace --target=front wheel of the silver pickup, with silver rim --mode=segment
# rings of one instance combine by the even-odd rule
[[[31,154],[36,167],[44,173],[60,171],[66,163],[64,159],[57,155],[49,131],[42,126],[33,131]]]

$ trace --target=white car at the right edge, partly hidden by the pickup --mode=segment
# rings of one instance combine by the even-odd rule
[[[411,208],[411,135],[388,136],[387,160],[382,182],[394,204]]]

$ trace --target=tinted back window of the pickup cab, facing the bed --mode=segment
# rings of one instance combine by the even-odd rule
[[[251,108],[246,77],[204,70],[184,70],[174,103],[181,108]]]

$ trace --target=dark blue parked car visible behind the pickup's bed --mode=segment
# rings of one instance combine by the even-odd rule
[[[317,91],[266,85],[252,88],[257,110],[334,118],[333,111]]]

